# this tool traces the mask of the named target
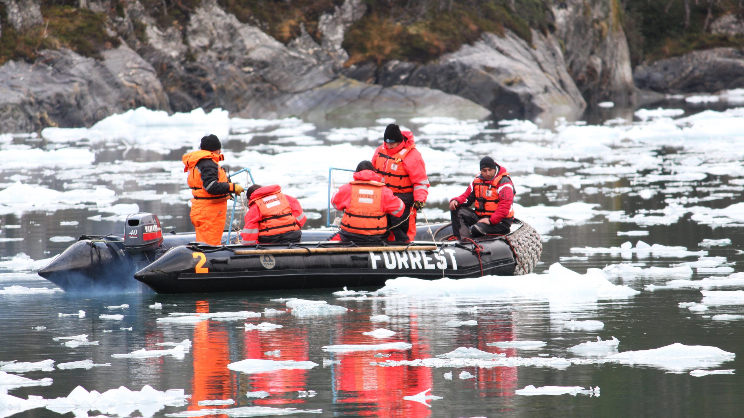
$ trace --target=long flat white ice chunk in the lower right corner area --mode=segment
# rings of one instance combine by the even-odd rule
[[[607,356],[606,360],[620,364],[643,364],[664,370],[684,371],[700,367],[718,367],[731,361],[736,354],[718,347],[704,345],[670,344],[653,350],[625,351]]]

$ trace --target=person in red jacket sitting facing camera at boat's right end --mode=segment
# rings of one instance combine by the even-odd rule
[[[481,159],[481,174],[465,193],[449,201],[452,232],[458,239],[508,234],[514,222],[514,184],[493,158]],[[475,208],[469,206],[475,203]]]

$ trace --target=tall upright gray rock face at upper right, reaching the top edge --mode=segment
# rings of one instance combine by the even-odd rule
[[[618,0],[563,0],[552,5],[568,73],[586,101],[632,105],[635,86]]]

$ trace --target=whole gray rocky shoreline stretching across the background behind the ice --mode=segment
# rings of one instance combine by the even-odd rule
[[[37,1],[1,0],[6,25],[17,31],[39,25]],[[577,117],[601,102],[632,106],[638,89],[688,93],[744,86],[744,53],[736,48],[693,51],[632,71],[614,4],[557,2],[551,6],[554,30],[532,29],[531,42],[505,29],[503,36],[483,33],[428,63],[345,66],[344,33],[364,16],[362,0],[343,1],[320,16],[315,36],[301,26],[286,44],[240,22],[217,0],[200,1],[180,30],[162,30],[140,1],[128,1],[107,23],[121,44],[100,57],[45,49],[33,62],[0,66],[0,132],[91,126],[140,106],[167,112],[222,108],[243,118]],[[100,11],[112,4],[88,0],[80,7]],[[720,30],[734,30],[734,23]]]

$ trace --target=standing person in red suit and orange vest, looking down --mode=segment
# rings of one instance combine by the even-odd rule
[[[429,196],[426,165],[416,149],[413,133],[400,132],[400,126],[391,123],[385,128],[382,140],[385,143],[375,149],[372,164],[382,175],[385,186],[405,204],[403,214],[389,216],[390,231],[396,241],[412,241],[416,237],[416,210],[423,208]]]

